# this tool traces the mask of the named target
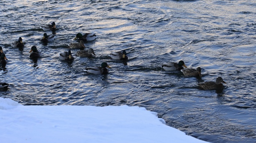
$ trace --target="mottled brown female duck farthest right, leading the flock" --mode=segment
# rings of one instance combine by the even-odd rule
[[[225,83],[222,79],[222,77],[217,77],[216,82],[199,82],[198,86],[201,89],[204,90],[218,90],[218,89],[223,89],[224,86],[222,83]]]

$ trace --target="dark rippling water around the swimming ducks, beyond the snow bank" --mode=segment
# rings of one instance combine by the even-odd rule
[[[167,125],[213,143],[256,142],[256,3],[251,0],[1,0],[0,46],[7,66],[0,96],[23,105],[129,105],[158,112]],[[42,24],[55,22],[47,45]],[[97,56],[61,61],[77,33]],[[47,31],[47,34],[52,34]],[[23,38],[23,50],[11,42]],[[36,45],[42,58],[29,58]],[[128,61],[112,60],[126,50]],[[164,71],[165,62],[202,68],[202,78]],[[85,73],[107,62],[109,74]],[[196,83],[227,83],[223,91]]]

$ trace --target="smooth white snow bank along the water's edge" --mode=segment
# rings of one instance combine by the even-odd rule
[[[0,97],[0,143],[207,143],[123,106],[24,106]]]

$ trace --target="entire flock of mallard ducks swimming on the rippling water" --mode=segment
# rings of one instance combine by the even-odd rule
[[[55,31],[56,25],[55,22],[52,22],[49,25],[42,25],[41,28],[43,31]],[[53,41],[55,38],[55,35],[47,35],[46,33],[43,34],[43,38],[40,40],[42,42],[48,42]],[[79,57],[91,57],[96,55],[94,53],[94,50],[92,48],[88,48],[88,50],[85,50],[84,42],[86,41],[93,41],[97,38],[95,33],[85,33],[82,35],[81,33],[76,34],[76,37],[74,40],[78,40],[76,43],[70,43],[69,48],[82,48],[83,50],[77,51],[76,55]],[[24,43],[22,42],[22,38],[19,37],[18,41],[12,42],[12,47],[14,48],[23,48]],[[42,57],[42,53],[40,50],[37,50],[36,46],[32,46],[31,50],[29,51],[30,58],[39,58]],[[114,60],[128,60],[128,56],[125,50],[123,51],[117,51],[117,52],[111,52],[109,56]],[[3,48],[0,46],[0,66],[1,69],[4,69],[6,67],[6,55],[3,51]],[[74,57],[71,53],[71,50],[64,51],[60,53],[59,56],[60,60],[74,60]],[[106,74],[108,73],[108,68],[111,68],[106,62],[103,62],[101,66],[95,66],[95,67],[86,67],[84,71],[92,74]],[[162,64],[162,68],[165,71],[181,71],[184,76],[199,76],[202,77],[201,74],[201,67],[197,67],[196,69],[187,68],[184,61],[179,61],[179,63],[164,63]],[[204,90],[221,90],[224,88],[222,83],[226,83],[223,81],[222,77],[217,77],[216,82],[199,82],[198,86],[200,89]],[[6,82],[0,81],[0,88],[7,88],[9,86]]]

